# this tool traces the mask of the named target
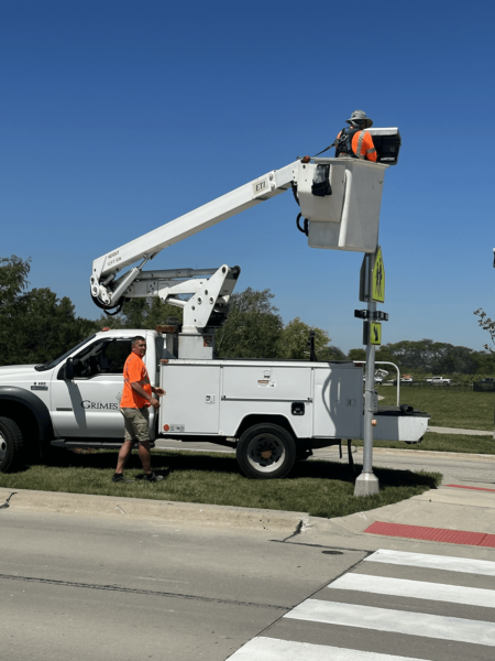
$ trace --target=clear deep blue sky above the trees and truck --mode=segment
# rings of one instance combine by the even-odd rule
[[[351,10],[352,7],[352,10]],[[383,340],[481,349],[495,271],[494,4],[3,0],[1,256],[81,316],[95,258],[333,141],[364,109],[397,126],[381,245]],[[285,322],[361,346],[362,254],[315,250],[287,193],[157,268],[240,264]]]

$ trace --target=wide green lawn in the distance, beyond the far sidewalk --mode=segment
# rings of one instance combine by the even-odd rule
[[[377,388],[385,399],[380,404],[395,405],[397,388]],[[416,409],[430,413],[429,424],[461,430],[486,430],[493,432],[495,392],[455,392],[449,388],[400,388],[400,403],[413,404]]]

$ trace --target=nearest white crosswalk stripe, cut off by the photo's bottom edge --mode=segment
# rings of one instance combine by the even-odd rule
[[[396,657],[336,648],[312,642],[295,642],[277,638],[253,638],[229,657],[235,661],[422,661],[410,657]]]

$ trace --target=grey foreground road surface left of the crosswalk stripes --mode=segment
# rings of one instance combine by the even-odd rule
[[[11,508],[0,527],[9,661],[220,661],[365,555]]]

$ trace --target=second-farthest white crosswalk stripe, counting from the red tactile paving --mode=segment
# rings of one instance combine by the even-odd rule
[[[495,590],[482,587],[442,585],[440,583],[427,583],[426,581],[367,576],[366,574],[344,574],[328,587],[331,589],[353,589],[396,597],[486,606],[487,608],[495,607]]]

